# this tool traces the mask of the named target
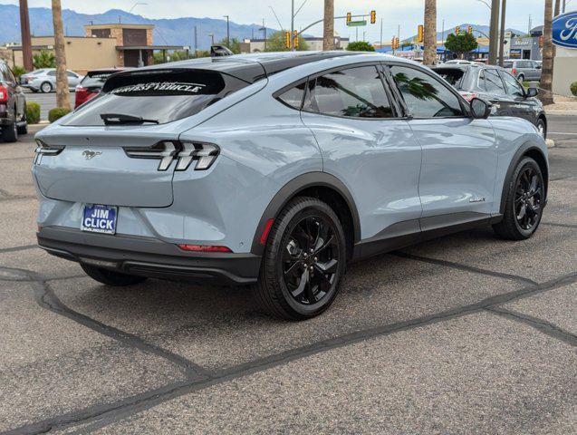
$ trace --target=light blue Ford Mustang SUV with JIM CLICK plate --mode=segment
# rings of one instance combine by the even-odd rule
[[[113,75],[36,135],[38,243],[106,285],[252,285],[271,314],[334,300],[346,264],[546,204],[534,126],[487,119],[426,67],[374,53],[259,53]]]

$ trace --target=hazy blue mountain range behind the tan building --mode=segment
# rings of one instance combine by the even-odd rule
[[[30,30],[35,36],[52,35],[52,11],[47,7],[31,7]],[[64,32],[68,36],[83,36],[84,24],[154,24],[154,43],[158,45],[188,45],[194,47],[194,28],[197,26],[197,47],[201,50],[210,48],[211,37],[215,42],[226,38],[226,20],[214,18],[175,18],[151,20],[141,15],[130,14],[120,9],[111,9],[103,14],[79,14],[70,9],[63,9]],[[230,22],[230,37],[243,40],[245,38],[262,38],[261,24],[236,24]],[[16,5],[0,5],[0,43],[19,43],[20,12]],[[268,28],[270,35],[277,30]],[[254,36],[253,36],[254,35]]]

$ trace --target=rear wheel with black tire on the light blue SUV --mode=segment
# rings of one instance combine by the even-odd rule
[[[304,320],[337,295],[346,270],[341,221],[317,198],[294,198],[274,219],[253,291],[268,314]]]

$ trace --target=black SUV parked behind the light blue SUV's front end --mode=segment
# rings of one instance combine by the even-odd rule
[[[543,104],[535,98],[537,90],[525,90],[505,69],[471,63],[440,64],[433,70],[455,86],[466,100],[480,97],[493,104],[493,115],[524,118],[537,127],[543,138],[546,136],[547,118]]]

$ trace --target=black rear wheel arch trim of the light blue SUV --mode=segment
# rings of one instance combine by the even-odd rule
[[[318,198],[332,208],[345,233],[347,256],[352,256],[354,244],[361,239],[359,212],[349,189],[340,179],[326,172],[303,174],[289,181],[276,193],[256,227],[251,252],[255,255],[263,254],[264,245],[261,245],[260,240],[267,222],[276,218],[284,206],[296,197]]]

